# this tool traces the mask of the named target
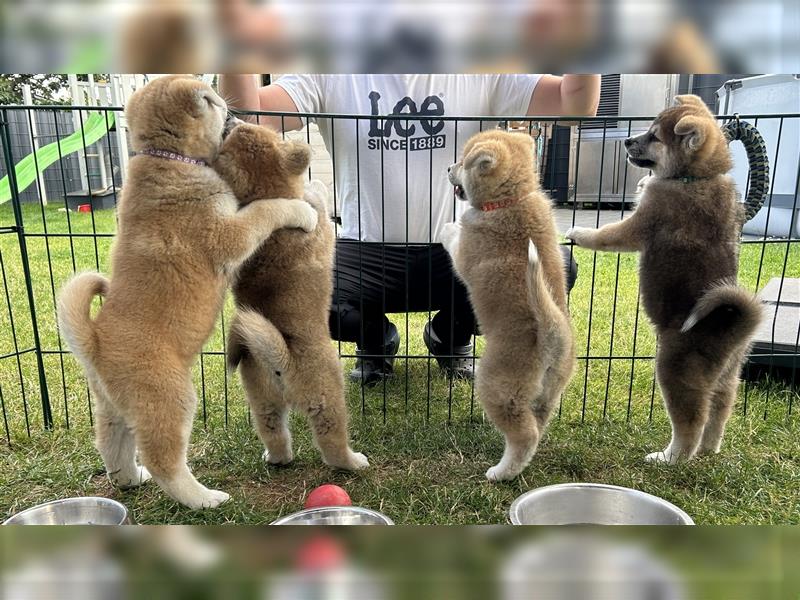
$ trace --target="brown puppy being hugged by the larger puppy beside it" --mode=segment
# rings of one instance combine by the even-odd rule
[[[307,144],[239,125],[225,140],[215,168],[247,207],[257,198],[301,194],[310,159]],[[292,461],[287,415],[294,407],[308,416],[325,463],[360,469],[369,463],[348,444],[344,380],[328,326],[334,251],[328,192],[318,181],[309,190],[306,199],[319,214],[316,229],[276,232],[237,274],[238,312],[228,361],[233,369],[240,365],[267,462]]]

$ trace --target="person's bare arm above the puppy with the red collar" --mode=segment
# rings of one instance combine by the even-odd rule
[[[544,75],[528,105],[529,116],[594,116],[600,102],[600,75]],[[559,121],[560,125],[573,122]]]

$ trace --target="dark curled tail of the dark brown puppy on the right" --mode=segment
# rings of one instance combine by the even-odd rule
[[[762,317],[758,298],[735,282],[723,281],[700,296],[681,333],[703,328],[743,340],[753,335]]]

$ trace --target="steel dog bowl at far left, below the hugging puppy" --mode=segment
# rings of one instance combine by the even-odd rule
[[[115,500],[65,498],[23,510],[3,525],[127,525],[128,509]]]

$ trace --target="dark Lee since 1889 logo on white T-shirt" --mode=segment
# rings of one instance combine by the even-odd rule
[[[444,121],[438,119],[425,119],[420,117],[435,117],[444,115],[444,102],[439,96],[428,96],[417,107],[417,103],[406,96],[394,105],[392,115],[408,115],[406,119],[379,119],[380,110],[378,101],[381,95],[378,92],[369,93],[370,114],[369,120],[369,139],[367,148],[369,150],[433,150],[444,148],[447,144],[447,136],[438,135],[444,129]],[[382,121],[382,122],[381,122]],[[414,134],[418,132],[417,126],[422,130],[422,135]],[[394,134],[392,130],[394,129]]]

